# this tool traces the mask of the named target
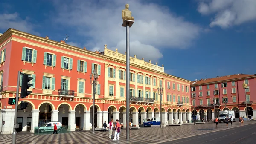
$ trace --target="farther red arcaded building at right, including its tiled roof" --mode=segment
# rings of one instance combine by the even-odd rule
[[[244,81],[249,89],[243,88]],[[195,109],[198,119],[212,119],[218,116],[220,110],[234,110],[235,118],[245,117],[246,101],[248,115],[256,116],[256,75],[236,74],[201,79],[192,81],[190,87],[191,93],[196,95]],[[193,108],[193,100],[191,104]]]

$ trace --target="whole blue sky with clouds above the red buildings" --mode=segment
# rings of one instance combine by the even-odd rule
[[[1,0],[9,28],[92,51],[125,53],[125,4],[135,18],[131,56],[188,80],[256,74],[256,0]]]

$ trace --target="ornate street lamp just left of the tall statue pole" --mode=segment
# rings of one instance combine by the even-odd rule
[[[93,73],[90,74],[90,84],[93,85],[93,127],[92,127],[92,132],[95,132],[95,127],[94,127],[94,111],[95,111],[95,91],[96,91],[96,85],[98,83],[98,77],[99,75],[96,72],[96,69],[93,70]],[[93,78],[93,82],[92,82]]]

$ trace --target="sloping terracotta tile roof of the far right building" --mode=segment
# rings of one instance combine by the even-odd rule
[[[204,84],[216,83],[221,81],[231,81],[231,80],[243,79],[243,78],[256,78],[256,75],[235,74],[235,75],[226,75],[226,76],[220,76],[220,77],[217,76],[215,78],[207,78],[207,79],[192,81],[190,83],[190,86],[204,85]]]

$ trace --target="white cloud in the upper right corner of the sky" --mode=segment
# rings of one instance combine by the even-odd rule
[[[227,29],[256,20],[256,0],[201,0],[198,12],[215,14],[210,26]]]

